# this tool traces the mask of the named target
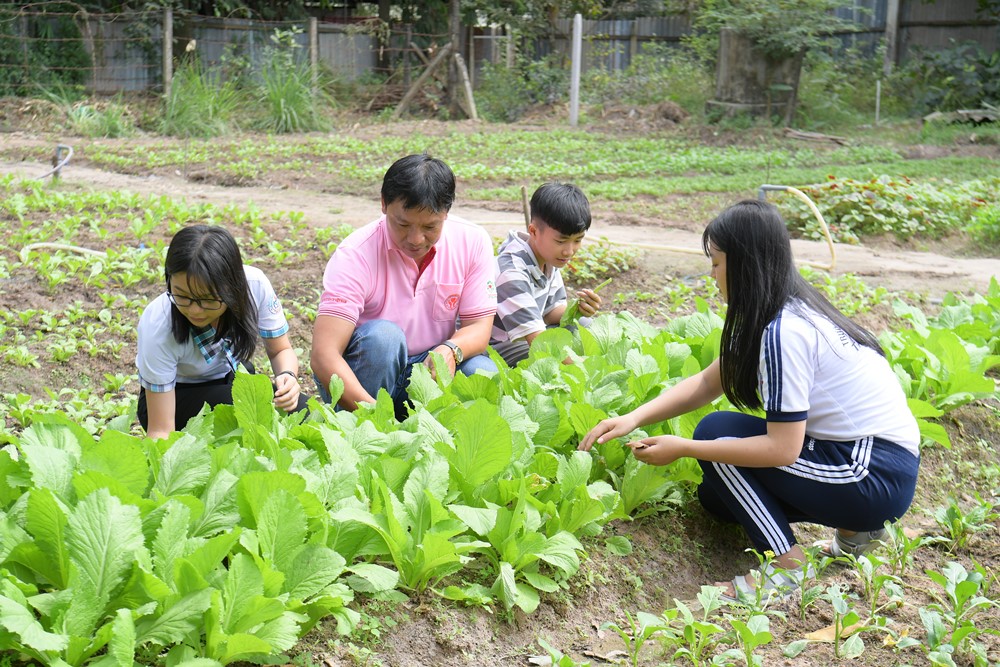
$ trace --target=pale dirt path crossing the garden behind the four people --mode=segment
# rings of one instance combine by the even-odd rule
[[[0,173],[16,173],[32,178],[48,171],[41,163],[0,162]],[[191,182],[180,175],[130,176],[71,164],[63,172],[63,183],[69,187],[119,189],[140,194],[182,197],[191,203],[236,204],[253,203],[268,211],[301,211],[311,224],[360,226],[378,215],[377,192],[357,196],[332,195],[310,190],[263,187],[222,187]],[[521,211],[501,211],[459,201],[453,213],[482,224],[495,237],[508,229],[524,224]],[[606,237],[613,243],[638,244],[645,250],[642,265],[647,270],[672,276],[701,275],[707,270],[701,254],[701,234],[662,226],[612,225],[600,219],[591,228],[591,238]],[[793,242],[796,258],[819,265],[830,264],[830,251],[825,243]],[[687,249],[674,252],[666,247]],[[836,261],[832,273],[853,273],[867,282],[890,290],[913,291],[939,298],[946,292],[983,292],[990,278],[1000,276],[1000,258],[948,257],[933,252],[872,248],[836,244]]]

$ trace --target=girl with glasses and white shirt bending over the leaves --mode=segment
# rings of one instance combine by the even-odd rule
[[[194,225],[170,242],[167,291],[139,318],[139,423],[150,438],[184,428],[201,409],[232,403],[238,366],[254,372],[258,336],[274,372],[274,405],[305,407],[288,322],[267,277],[244,266],[236,240]]]

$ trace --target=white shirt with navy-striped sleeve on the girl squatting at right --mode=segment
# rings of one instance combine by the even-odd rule
[[[920,429],[886,359],[798,307],[805,316],[786,305],[761,337],[757,379],[767,420],[805,419],[806,435],[817,440],[878,437],[919,455]]]

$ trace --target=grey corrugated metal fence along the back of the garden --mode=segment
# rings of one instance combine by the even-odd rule
[[[876,53],[886,30],[888,2],[844,0],[837,15],[858,26],[835,35],[844,48]],[[900,0],[898,60],[904,61],[914,47],[939,48],[966,40],[978,42],[987,51],[996,50],[1000,26],[995,20],[983,20],[976,10],[976,0]],[[44,84],[46,75],[52,73],[61,73],[61,80],[97,93],[162,89],[162,13],[32,12],[31,6],[0,9],[0,94],[23,94]],[[173,24],[179,49],[174,55],[180,56],[185,46],[194,44],[203,64],[224,71],[239,60],[254,69],[259,67],[275,31],[290,31],[295,33],[290,39],[302,47],[303,57],[308,58],[311,54],[306,26],[304,22],[188,17]],[[569,53],[571,20],[559,20],[554,28],[550,39],[532,45],[536,57]],[[582,66],[585,70],[626,69],[648,45],[678,44],[690,29],[684,16],[584,21]],[[317,33],[316,60],[331,72],[354,79],[376,68],[380,46],[371,31],[356,25],[318,23]],[[403,34],[394,30],[395,42],[403,39]],[[409,32],[405,35],[403,41],[408,43],[402,44],[402,50],[408,51],[414,46],[410,41],[413,36]],[[423,41],[439,45],[447,41],[444,36],[423,37]],[[469,29],[464,41],[462,52],[470,56],[473,76],[483,62],[505,62],[513,54],[511,37],[502,27]],[[394,47],[389,54],[405,63],[414,55],[398,51]],[[416,57],[412,62],[419,66]],[[405,69],[408,73],[409,67]]]

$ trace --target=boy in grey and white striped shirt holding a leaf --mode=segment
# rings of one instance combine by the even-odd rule
[[[573,258],[590,229],[590,203],[575,185],[546,183],[531,196],[528,231],[512,231],[497,255],[497,313],[490,345],[510,366],[528,357],[531,342],[559,326],[566,310],[560,269]],[[601,297],[576,293],[580,312],[593,316]]]

